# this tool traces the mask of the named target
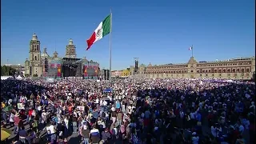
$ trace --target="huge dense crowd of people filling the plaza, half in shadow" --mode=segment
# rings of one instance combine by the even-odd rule
[[[4,80],[1,127],[15,144],[254,143],[254,96],[220,79]]]

